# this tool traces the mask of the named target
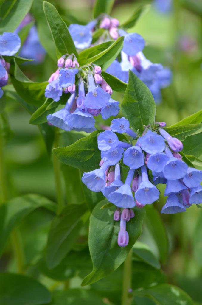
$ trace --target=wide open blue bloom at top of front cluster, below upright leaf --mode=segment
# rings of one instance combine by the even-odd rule
[[[146,135],[139,138],[139,144],[144,151],[152,155],[163,152],[165,149],[164,138],[151,130],[148,130]]]

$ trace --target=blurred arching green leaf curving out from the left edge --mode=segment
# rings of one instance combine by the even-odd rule
[[[37,194],[15,197],[0,206],[0,253],[2,253],[13,228],[39,207],[45,207],[52,212],[56,210],[56,205],[51,200]]]

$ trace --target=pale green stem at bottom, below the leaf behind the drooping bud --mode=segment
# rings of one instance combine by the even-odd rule
[[[131,289],[132,281],[132,249],[128,253],[124,261],[124,274],[123,274],[123,293],[122,305],[130,305],[132,298],[129,296],[129,289]]]

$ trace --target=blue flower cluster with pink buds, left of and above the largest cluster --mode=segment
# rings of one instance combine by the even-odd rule
[[[119,102],[111,98],[112,89],[103,79],[101,67],[91,65],[92,70],[89,66],[79,68],[77,59],[73,56],[58,59],[58,69],[49,78],[45,89],[47,98],[57,102],[63,92],[69,92],[71,96],[66,106],[49,114],[47,120],[66,131],[73,129],[92,132],[96,130],[94,117],[101,114],[106,120],[116,116],[120,110]]]

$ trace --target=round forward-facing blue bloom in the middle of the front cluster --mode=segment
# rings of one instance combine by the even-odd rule
[[[144,165],[144,154],[139,146],[129,147],[124,151],[124,164],[131,168],[139,168]]]

